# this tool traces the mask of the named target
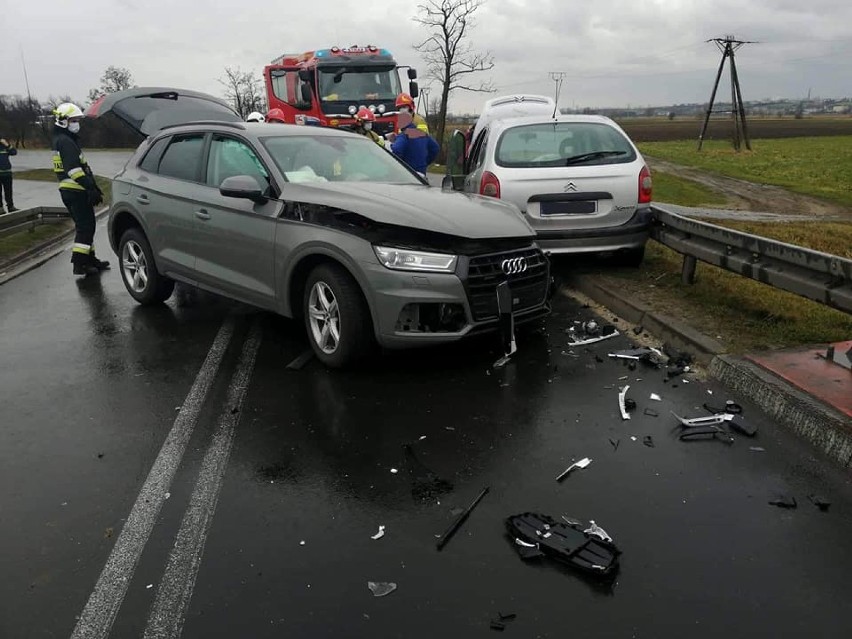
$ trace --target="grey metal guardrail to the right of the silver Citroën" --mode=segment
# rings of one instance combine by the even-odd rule
[[[652,207],[651,237],[682,253],[682,278],[696,260],[852,313],[852,260],[734,231]]]

